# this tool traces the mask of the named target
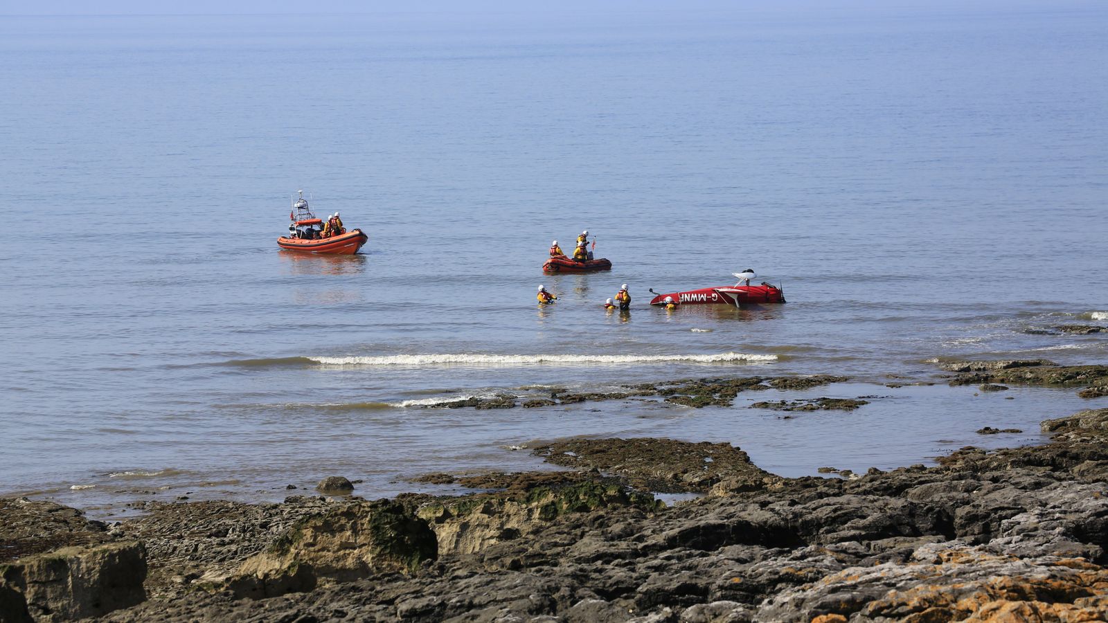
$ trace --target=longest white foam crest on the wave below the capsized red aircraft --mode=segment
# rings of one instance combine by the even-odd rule
[[[328,366],[573,366],[578,364],[728,364],[776,361],[777,355],[720,353],[718,355],[392,355],[388,357],[309,357]]]

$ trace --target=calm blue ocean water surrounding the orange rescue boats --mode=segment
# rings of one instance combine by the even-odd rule
[[[1108,10],[798,7],[3,17],[0,493],[112,514],[341,473],[388,496],[574,435],[797,476],[1108,406],[882,385],[1105,361],[1106,335],[1035,329],[1108,319]],[[297,190],[362,253],[279,251]],[[613,270],[544,276],[583,228]],[[789,303],[646,305],[747,267]],[[634,309],[606,315],[622,283]],[[790,374],[852,382],[772,399],[876,398],[420,408]]]

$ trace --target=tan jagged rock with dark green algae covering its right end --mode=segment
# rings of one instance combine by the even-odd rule
[[[298,521],[244,562],[227,588],[250,598],[281,595],[376,572],[412,573],[437,555],[434,532],[402,504],[355,502]]]

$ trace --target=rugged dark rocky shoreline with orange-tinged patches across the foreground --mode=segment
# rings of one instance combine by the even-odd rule
[[[1106,366],[942,366],[952,385],[1108,385]],[[640,390],[712,404],[772,384],[752,379]],[[568,439],[533,450],[566,471],[428,477],[474,490],[459,497],[151,502],[112,525],[0,499],[0,622],[1101,621],[1108,409],[1042,429],[832,478],[727,443]]]

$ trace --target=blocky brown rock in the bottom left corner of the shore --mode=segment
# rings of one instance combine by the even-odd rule
[[[0,620],[100,616],[146,599],[146,550],[126,541],[66,547],[0,564]],[[10,619],[9,619],[10,617]]]

